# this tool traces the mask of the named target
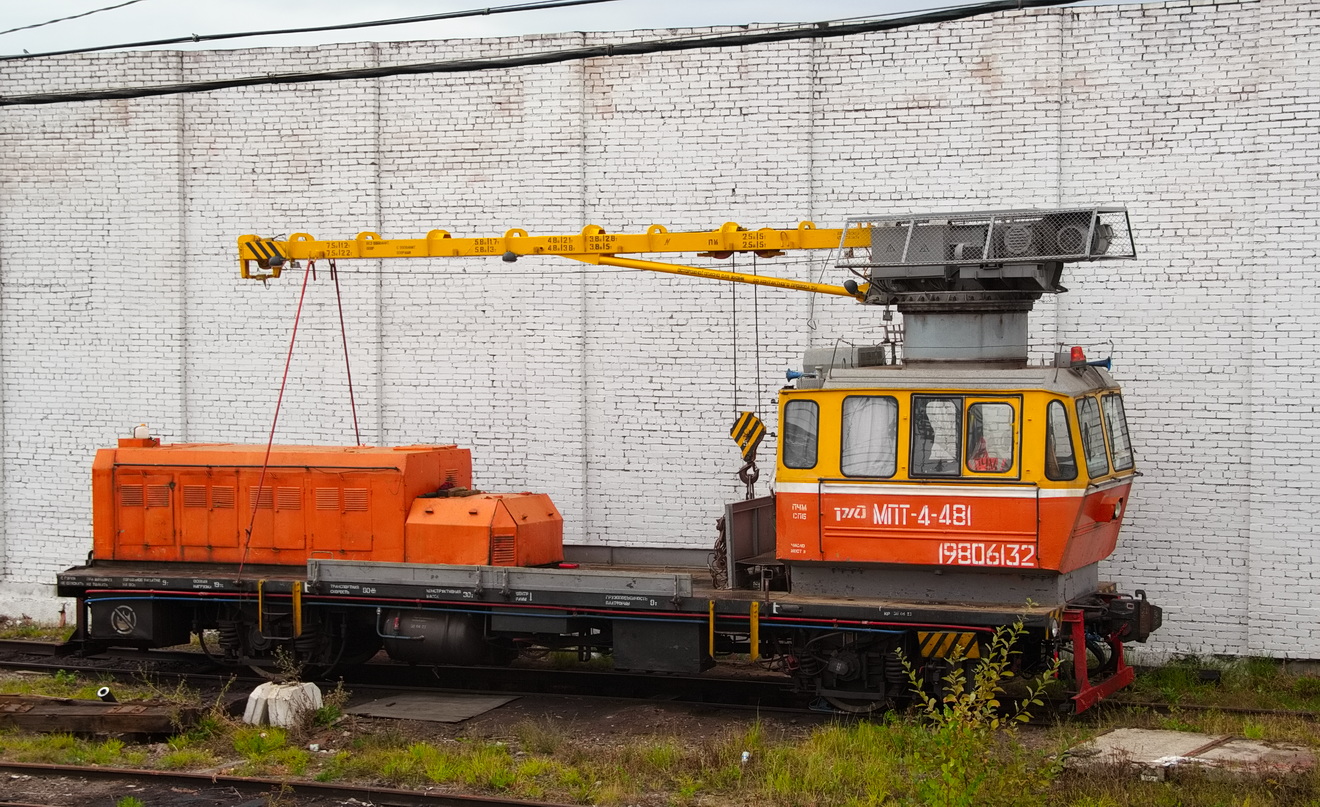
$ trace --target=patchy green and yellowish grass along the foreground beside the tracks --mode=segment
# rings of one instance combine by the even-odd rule
[[[342,717],[338,707],[329,719],[309,720],[285,730],[236,724],[213,705],[201,721],[168,744],[140,746],[120,740],[7,732],[0,733],[0,758],[166,770],[211,769],[231,762],[232,773],[247,775],[446,787],[603,806],[1320,804],[1316,774],[1216,779],[1179,770],[1170,782],[1140,782],[1113,770],[1078,773],[1063,767],[1060,752],[1119,725],[1232,734],[1320,749],[1320,724],[1305,717],[1213,708],[1255,703],[1291,708],[1284,705],[1290,700],[1307,703],[1320,697],[1320,679],[1261,659],[1213,663],[1220,670],[1218,682],[1200,674],[1208,662],[1184,660],[1143,672],[1135,691],[1127,695],[1172,704],[1172,709],[1101,707],[1057,725],[1044,721],[1019,729],[1006,729],[1003,721],[995,720],[998,712],[982,708],[998,697],[994,682],[968,678],[961,701],[927,703],[907,715],[830,722],[813,729],[787,725],[771,729],[754,721],[709,737],[663,733],[602,737],[590,726],[540,719],[515,724],[494,738],[420,740],[391,725],[380,733],[359,733],[350,740],[339,734],[354,726],[355,719],[348,717],[330,729],[347,745],[335,742],[337,753],[321,754],[309,753],[306,744],[325,742],[325,734],[318,732],[326,732],[327,722]],[[67,672],[20,680],[25,691],[59,696],[90,696],[99,683]],[[13,685],[0,683],[0,689]],[[114,685],[124,696],[131,691],[124,684]],[[143,685],[141,692],[160,695],[149,685]],[[341,689],[331,700],[338,704],[346,699]],[[1212,708],[1191,708],[1196,704]]]

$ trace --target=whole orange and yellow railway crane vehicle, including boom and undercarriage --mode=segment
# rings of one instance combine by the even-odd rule
[[[635,255],[833,250],[840,285]],[[243,277],[294,262],[558,256],[851,297],[903,314],[894,345],[807,350],[779,396],[775,490],[727,505],[710,569],[690,553],[565,547],[544,494],[482,494],[458,446],[160,445],[94,466],[94,551],[59,575],[73,643],[209,637],[227,664],[281,652],[507,663],[520,650],[700,674],[742,652],[836,709],[902,700],[1022,622],[1024,672],[1060,659],[1069,707],[1126,685],[1125,645],[1159,629],[1143,592],[1100,579],[1137,466],[1122,391],[1080,349],[1028,362],[1027,317],[1065,264],[1134,258],[1122,207],[858,217],[795,228],[392,240],[244,235]],[[309,267],[310,268],[310,267]],[[766,428],[735,424],[748,464]]]

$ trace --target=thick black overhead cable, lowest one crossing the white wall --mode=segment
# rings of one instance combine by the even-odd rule
[[[774,28],[767,30],[750,30],[743,33],[706,34],[697,37],[681,37],[673,40],[648,40],[639,42],[623,42],[616,45],[594,45],[590,48],[569,48],[564,50],[550,50],[543,53],[528,53],[511,57],[496,57],[484,59],[454,59],[447,62],[421,62],[412,65],[389,65],[384,67],[354,67],[348,70],[327,70],[321,73],[284,73],[276,75],[249,75],[240,78],[223,78],[203,82],[186,82],[180,85],[157,85],[153,87],[123,87],[116,90],[90,90],[82,92],[44,92],[34,95],[0,96],[0,107],[36,106],[51,103],[69,103],[78,100],[114,100],[128,98],[150,98],[156,95],[181,95],[186,92],[209,92],[214,90],[228,90],[232,87],[255,87],[264,85],[297,85],[309,82],[337,82],[367,78],[385,78],[393,75],[428,75],[437,73],[477,73],[482,70],[506,70],[510,67],[529,67],[536,65],[553,65],[590,58],[609,58],[616,55],[640,55],[649,53],[672,53],[681,50],[700,50],[710,48],[742,48],[744,45],[759,45],[766,42],[788,42],[793,40],[818,40],[846,37],[861,33],[882,30],[895,30],[911,28],[913,25],[928,25],[932,22],[948,22],[965,20],[981,15],[1018,11],[1024,8],[1044,8],[1052,5],[1072,5],[1081,0],[994,0],[975,5],[962,5],[942,8],[931,12],[891,17],[884,20],[869,20],[863,22],[829,24],[814,22],[792,28]]]

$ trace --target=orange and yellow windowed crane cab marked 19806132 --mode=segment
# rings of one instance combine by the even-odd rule
[[[1113,553],[1135,470],[1121,394],[1107,372],[883,367],[834,378],[825,388],[781,395],[780,433],[801,436],[788,407],[814,412],[816,448],[796,456],[789,449],[785,464],[781,446],[780,560],[1067,573]],[[880,400],[884,416],[850,428],[850,399]],[[917,468],[917,444],[932,432],[917,416],[923,400],[946,407],[952,450],[937,473]],[[985,441],[969,437],[978,405],[1003,413],[990,458]],[[1056,419],[1047,425],[1051,409]],[[858,435],[883,445],[875,449],[878,470],[850,473],[841,460]]]

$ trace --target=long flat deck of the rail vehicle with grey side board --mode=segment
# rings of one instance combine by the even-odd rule
[[[627,617],[747,619],[767,623],[840,622],[853,626],[995,627],[1016,619],[1045,626],[1063,602],[928,602],[900,598],[824,597],[788,592],[714,588],[704,568],[690,565],[599,565],[577,568],[455,567],[343,560],[312,560],[302,567],[236,567],[176,563],[96,563],[59,575],[58,593],[95,598],[137,593],[168,598],[220,593],[286,597],[294,586],[304,601],[437,608],[482,604],[502,613],[564,617],[610,613]]]

